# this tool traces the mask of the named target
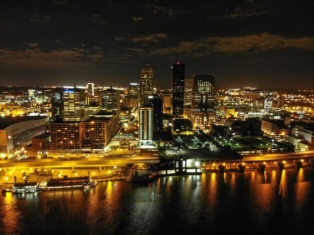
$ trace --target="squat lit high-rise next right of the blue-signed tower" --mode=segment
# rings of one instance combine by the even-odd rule
[[[110,88],[101,92],[101,111],[117,114],[120,118],[120,92]]]

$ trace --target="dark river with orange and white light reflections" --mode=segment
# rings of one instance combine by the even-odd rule
[[[0,234],[312,234],[314,169],[0,196]]]

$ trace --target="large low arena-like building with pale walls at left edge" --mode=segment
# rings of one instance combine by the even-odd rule
[[[45,116],[0,116],[0,159],[22,155],[32,138],[46,131]]]

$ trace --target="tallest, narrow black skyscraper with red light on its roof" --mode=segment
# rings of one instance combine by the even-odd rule
[[[178,62],[171,67],[172,116],[183,117],[185,64]]]

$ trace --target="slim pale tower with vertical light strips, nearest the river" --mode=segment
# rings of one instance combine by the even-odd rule
[[[149,144],[152,141],[152,112],[152,103],[143,103],[138,108],[138,139],[140,143]]]

